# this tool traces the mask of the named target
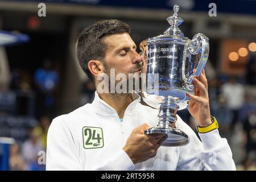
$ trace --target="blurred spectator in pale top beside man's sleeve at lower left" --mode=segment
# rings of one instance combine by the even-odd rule
[[[38,164],[38,152],[44,151],[42,140],[40,140],[41,130],[32,129],[30,138],[22,146],[22,156],[28,166],[28,170],[42,170]]]

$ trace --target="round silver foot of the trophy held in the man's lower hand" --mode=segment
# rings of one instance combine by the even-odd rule
[[[150,135],[152,137],[156,137],[159,135],[168,135],[168,138],[164,140],[161,145],[165,147],[184,146],[189,143],[188,135],[174,127],[151,127],[150,129],[144,131],[144,134]]]

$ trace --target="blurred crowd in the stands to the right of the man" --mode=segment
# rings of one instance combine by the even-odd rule
[[[216,72],[208,78],[211,114],[228,140],[237,170],[256,170],[256,56],[247,64],[246,76]],[[187,110],[178,114],[196,129]]]

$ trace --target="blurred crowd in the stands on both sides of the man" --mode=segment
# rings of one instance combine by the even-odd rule
[[[255,57],[250,60],[247,75],[244,77],[216,72],[216,76],[208,78],[211,114],[219,123],[221,136],[228,139],[238,170],[256,169],[255,62]],[[59,74],[51,60],[46,59],[42,68],[38,68],[33,76],[31,75],[19,69],[12,72],[10,90],[35,93],[34,114],[27,113],[36,119],[36,123],[28,125],[26,137],[16,139],[16,143],[10,146],[10,170],[45,169],[45,165],[38,163],[38,154],[39,151],[46,151],[47,131],[52,119],[56,117],[55,94],[58,93]],[[81,90],[80,103],[77,105],[92,102],[94,90],[91,81],[85,82]],[[18,104],[18,107],[26,107],[24,102]],[[1,116],[3,114],[1,112]],[[20,114],[24,113],[14,113]],[[192,129],[196,129],[196,121],[187,110],[178,111],[178,114]]]

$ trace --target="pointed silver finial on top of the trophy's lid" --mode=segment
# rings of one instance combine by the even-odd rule
[[[183,36],[183,32],[181,32],[179,26],[183,22],[183,19],[177,16],[180,7],[178,5],[174,5],[174,15],[167,18],[168,23],[171,25],[166,31],[164,31],[164,35],[170,36]]]

